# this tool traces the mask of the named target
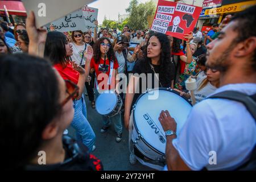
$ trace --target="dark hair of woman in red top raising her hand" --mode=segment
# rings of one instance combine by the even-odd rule
[[[68,43],[67,37],[61,32],[48,32],[44,57],[47,57],[52,64],[67,64],[67,51],[65,44]]]

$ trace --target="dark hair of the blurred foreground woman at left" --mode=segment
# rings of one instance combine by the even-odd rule
[[[27,54],[0,56],[0,82],[2,164],[22,168],[38,155],[43,130],[60,114],[59,84],[48,61]]]

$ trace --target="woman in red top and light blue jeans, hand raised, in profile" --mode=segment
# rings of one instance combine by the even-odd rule
[[[68,43],[67,37],[61,32],[48,32],[44,56],[47,57],[55,69],[60,73],[64,80],[71,80],[79,86],[79,94],[73,97],[73,107],[75,114],[71,126],[76,129],[77,142],[82,146],[84,144],[89,151],[95,150],[95,134],[86,119],[86,104],[84,100],[84,83],[88,78],[90,69],[90,60],[93,56],[92,47],[88,46],[85,52],[85,69],[77,63],[69,60],[72,56],[72,44]]]

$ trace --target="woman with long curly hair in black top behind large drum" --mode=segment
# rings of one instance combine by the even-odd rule
[[[146,91],[145,89],[158,87],[170,88],[172,86],[175,75],[175,67],[173,61],[171,60],[170,49],[170,41],[165,34],[153,34],[148,40],[146,52],[144,53],[146,56],[144,56],[142,60],[137,61],[133,69],[133,74],[137,73],[138,75],[133,75],[130,77],[129,85],[127,87],[125,99],[126,129],[129,128],[131,106],[134,105],[137,98]],[[138,77],[143,73],[146,74],[146,88],[142,88],[142,79]],[[152,78],[148,77],[148,74],[154,75],[155,73],[159,74],[159,76],[156,76],[159,82],[155,82],[154,76],[152,76]],[[148,79],[152,79],[152,85],[148,85]],[[139,87],[139,90],[135,89],[137,86]],[[139,93],[135,93],[135,90],[139,91]],[[134,154],[139,158],[143,158],[143,155],[138,150],[134,150]],[[130,163],[135,164],[135,162],[135,156],[131,154]]]

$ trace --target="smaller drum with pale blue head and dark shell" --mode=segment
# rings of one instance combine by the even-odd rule
[[[122,108],[122,98],[112,90],[106,90],[96,100],[96,110],[107,117],[117,115]]]

